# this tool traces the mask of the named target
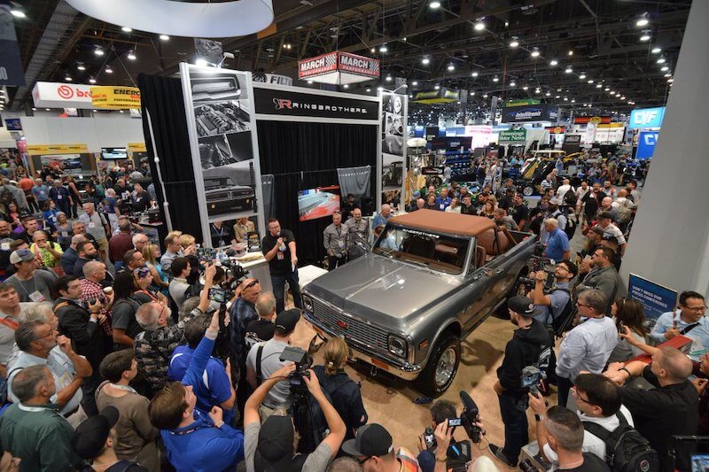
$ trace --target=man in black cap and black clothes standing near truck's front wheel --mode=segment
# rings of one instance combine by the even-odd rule
[[[503,365],[497,369],[498,380],[494,386],[504,423],[504,447],[490,444],[490,452],[515,468],[522,446],[529,440],[525,413],[529,389],[522,385],[522,371],[537,363],[544,348],[554,342],[544,325],[532,317],[534,303],[530,298],[512,297],[507,306],[510,321],[518,329],[505,346]]]

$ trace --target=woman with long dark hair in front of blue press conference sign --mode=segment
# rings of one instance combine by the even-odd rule
[[[643,306],[632,298],[617,298],[611,306],[611,315],[615,320],[619,333],[626,332],[625,326],[630,330],[632,340],[627,337],[619,337],[618,344],[611,352],[608,362],[625,362],[643,353],[643,349],[638,347],[646,344],[647,329],[645,329],[645,312]]]

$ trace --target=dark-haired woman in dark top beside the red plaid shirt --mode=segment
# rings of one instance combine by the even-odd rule
[[[151,301],[140,290],[132,272],[119,272],[113,281],[113,344],[116,350],[133,347],[133,339],[143,331],[136,321],[136,311],[146,301]]]

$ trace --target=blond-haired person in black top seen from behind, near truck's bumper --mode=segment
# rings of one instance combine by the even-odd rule
[[[342,337],[332,337],[325,344],[324,366],[315,366],[317,380],[332,398],[332,406],[345,422],[345,440],[354,437],[357,428],[367,423],[367,411],[362,404],[360,384],[345,373],[347,343]]]

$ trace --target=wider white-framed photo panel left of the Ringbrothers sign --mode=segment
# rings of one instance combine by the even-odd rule
[[[209,223],[262,211],[251,74],[186,63],[180,74],[203,241],[211,245]]]

